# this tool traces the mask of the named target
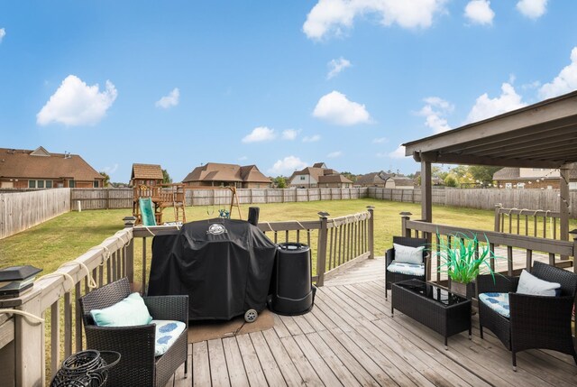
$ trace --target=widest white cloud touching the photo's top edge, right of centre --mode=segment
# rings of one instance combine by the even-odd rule
[[[307,14],[303,32],[320,40],[328,33],[340,35],[353,27],[355,17],[376,15],[385,26],[426,28],[435,14],[444,12],[446,0],[319,0]]]

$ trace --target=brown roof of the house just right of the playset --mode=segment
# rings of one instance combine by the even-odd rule
[[[264,176],[256,165],[241,167],[236,164],[222,164],[208,162],[195,168],[182,182],[194,181],[238,181],[238,182],[266,182],[270,179]]]

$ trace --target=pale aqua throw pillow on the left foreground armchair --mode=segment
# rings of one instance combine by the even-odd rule
[[[146,325],[152,321],[151,314],[138,293],[133,293],[105,309],[90,310],[98,327],[129,327]]]

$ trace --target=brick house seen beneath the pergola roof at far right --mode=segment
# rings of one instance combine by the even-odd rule
[[[559,170],[512,168],[496,171],[493,180],[502,189],[559,189]],[[577,189],[577,164],[569,170],[569,189]]]

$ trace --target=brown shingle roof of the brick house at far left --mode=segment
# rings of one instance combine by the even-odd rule
[[[50,153],[36,150],[0,148],[0,178],[104,180],[78,154]]]

